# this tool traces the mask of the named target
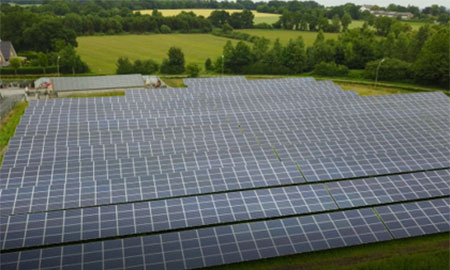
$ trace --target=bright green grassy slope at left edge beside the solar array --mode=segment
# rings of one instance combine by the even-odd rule
[[[27,106],[28,102],[17,103],[9,115],[0,123],[0,164],[3,161],[3,155],[6,152],[9,139],[14,136],[16,127]]]

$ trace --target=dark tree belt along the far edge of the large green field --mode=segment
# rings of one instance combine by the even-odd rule
[[[51,3],[61,4],[60,2]],[[47,52],[55,49],[54,40],[64,40],[67,44],[76,47],[76,37],[80,35],[122,32],[170,33],[172,31],[206,33],[211,32],[213,26],[223,27],[225,24],[235,29],[251,28],[254,18],[252,12],[248,10],[231,15],[226,11],[214,11],[209,18],[197,16],[192,12],[162,16],[157,10],[150,15],[131,13],[130,10],[117,11],[113,14],[113,16],[102,17],[97,13],[84,15],[71,12],[59,16],[51,13],[34,13],[31,8],[2,5],[0,38],[11,40],[17,50]]]

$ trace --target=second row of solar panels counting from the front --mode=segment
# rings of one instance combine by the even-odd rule
[[[14,215],[3,217],[1,222],[4,224],[2,225],[2,249],[128,236],[323,212],[338,208],[442,197],[450,195],[450,184],[447,181],[449,176],[448,170],[433,171],[400,177],[258,189],[150,202],[123,204],[115,201],[120,204],[93,207],[83,205],[84,208],[73,210],[51,209],[51,212]],[[75,208],[80,207],[79,196],[81,195],[86,196],[86,194],[71,193],[59,199],[45,196],[41,199],[47,204],[50,202],[44,200],[51,199],[52,205],[66,203],[72,204],[74,206],[72,208]],[[98,198],[98,195],[108,194],[100,192],[94,196]],[[99,204],[112,197],[106,196],[103,200],[99,198]],[[65,201],[70,199],[73,201]],[[11,204],[11,202],[12,200],[2,204]],[[22,202],[16,199],[16,203]],[[10,211],[4,211],[7,209],[2,206],[2,215],[12,214]]]

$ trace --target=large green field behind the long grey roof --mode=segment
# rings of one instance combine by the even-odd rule
[[[222,55],[223,46],[228,40],[231,39],[210,34],[87,36],[77,38],[77,51],[92,72],[112,74],[121,56],[130,60],[153,59],[161,63],[167,58],[167,51],[172,46],[183,50],[186,63],[197,63],[203,67],[208,57],[215,61]],[[231,41],[234,44],[238,42]]]

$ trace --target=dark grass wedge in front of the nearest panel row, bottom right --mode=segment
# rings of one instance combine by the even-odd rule
[[[448,233],[238,263],[211,269],[449,269]]]

